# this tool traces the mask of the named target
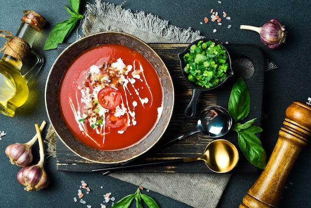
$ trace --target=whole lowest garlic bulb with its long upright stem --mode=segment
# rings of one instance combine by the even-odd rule
[[[50,184],[50,178],[44,170],[44,149],[39,125],[36,123],[38,135],[40,160],[38,164],[24,167],[17,173],[17,180],[21,185],[26,186],[24,190],[31,192],[34,190],[45,189]]]

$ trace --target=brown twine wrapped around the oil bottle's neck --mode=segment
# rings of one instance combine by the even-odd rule
[[[2,33],[6,33],[7,35]],[[0,31],[0,36],[7,38],[3,47],[0,49],[0,52],[5,49],[4,54],[9,55],[23,63],[26,60],[27,55],[31,53],[30,45],[22,38],[16,36],[12,37],[12,33],[5,30]]]

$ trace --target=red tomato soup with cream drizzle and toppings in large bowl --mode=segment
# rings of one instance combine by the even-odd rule
[[[59,93],[67,127],[100,150],[128,148],[154,128],[163,108],[155,68],[136,50],[117,44],[93,47],[66,70]]]

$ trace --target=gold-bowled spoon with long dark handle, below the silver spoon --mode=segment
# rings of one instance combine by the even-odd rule
[[[165,161],[155,161],[150,163],[141,163],[136,165],[124,165],[110,168],[102,168],[98,170],[92,170],[93,172],[98,171],[118,171],[133,168],[143,168],[150,166],[168,165],[171,163],[178,162],[193,162],[197,160],[203,160],[207,167],[215,173],[227,173],[231,171],[238,162],[238,151],[236,147],[225,139],[217,139],[210,142],[205,150],[204,154],[199,157],[189,157],[172,159]]]

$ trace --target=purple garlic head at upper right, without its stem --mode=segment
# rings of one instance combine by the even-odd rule
[[[268,48],[277,48],[285,42],[285,26],[277,19],[271,19],[261,27],[260,39]]]

